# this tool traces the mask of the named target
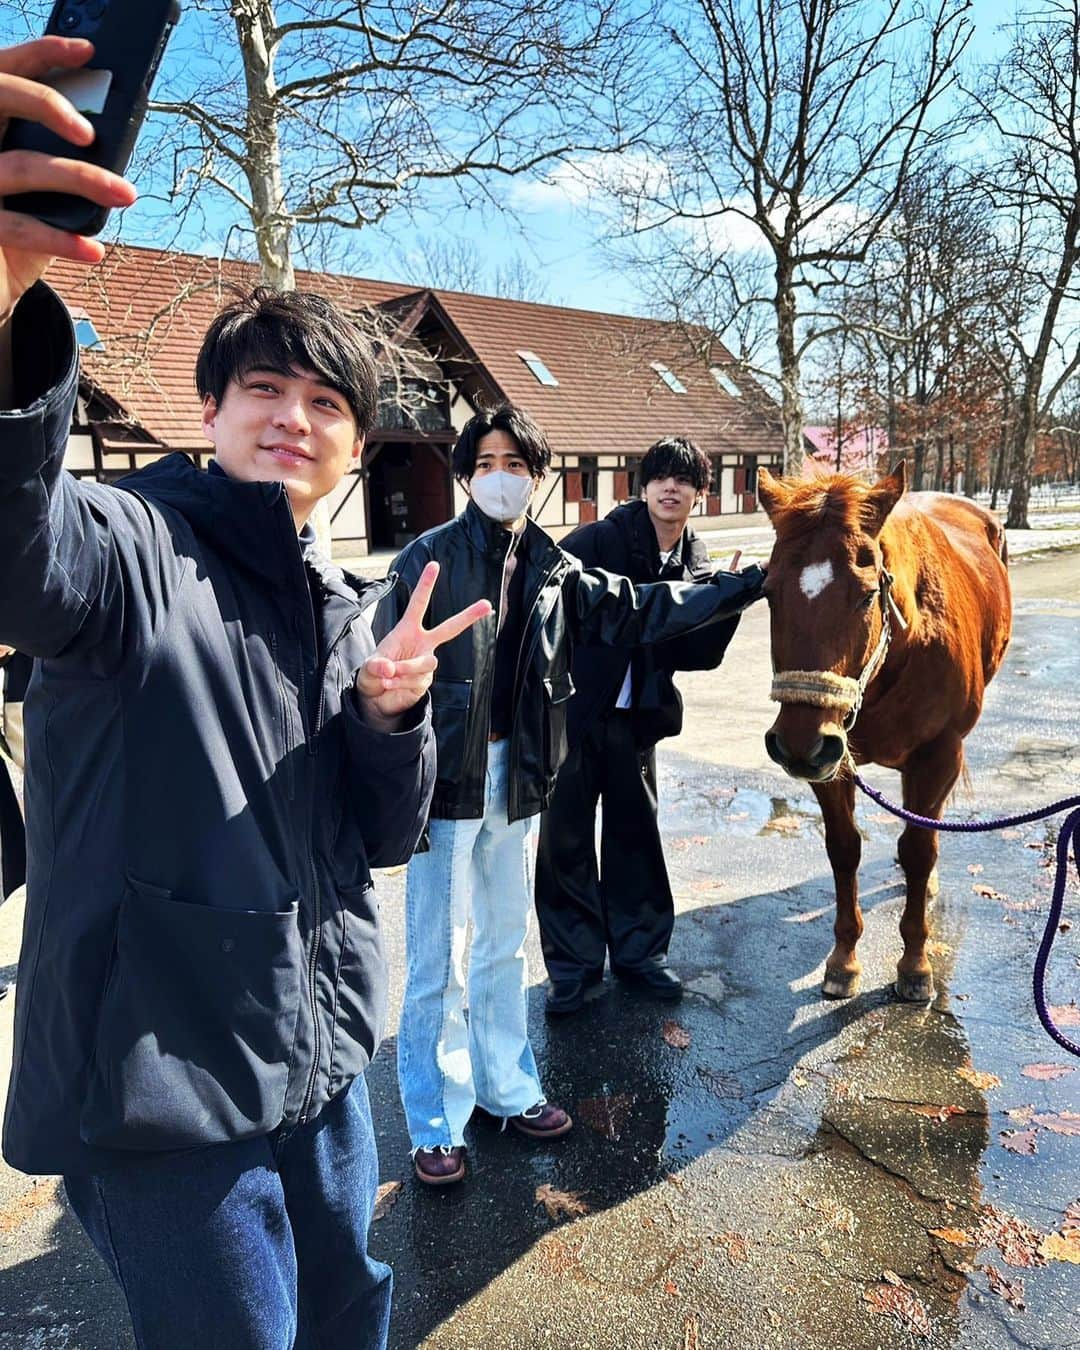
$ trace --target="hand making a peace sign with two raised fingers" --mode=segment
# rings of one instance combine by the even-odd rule
[[[486,599],[474,601],[467,609],[424,628],[431,594],[439,578],[439,563],[428,563],[420,574],[405,613],[356,671],[356,695],[369,722],[387,728],[402,713],[414,707],[431,687],[439,660],[436,647],[458,637],[478,618],[491,613]],[[387,728],[389,729],[389,728]]]

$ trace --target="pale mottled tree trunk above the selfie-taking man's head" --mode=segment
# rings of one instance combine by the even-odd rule
[[[277,82],[271,35],[277,26],[269,0],[232,0],[232,18],[244,62],[247,134],[244,174],[251,188],[251,220],[262,279],[278,290],[293,290],[292,219],[285,201],[278,136]]]

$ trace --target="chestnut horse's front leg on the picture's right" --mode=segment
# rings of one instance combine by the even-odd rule
[[[964,742],[945,733],[923,745],[903,768],[903,805],[917,815],[941,818],[964,763]],[[900,918],[903,956],[896,963],[896,994],[910,1003],[929,1003],[934,996],[934,975],[926,959],[926,900],[937,892],[937,830],[907,825],[896,849],[907,899]]]

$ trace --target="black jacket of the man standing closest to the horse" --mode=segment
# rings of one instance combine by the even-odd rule
[[[643,501],[624,502],[603,520],[580,525],[567,535],[562,547],[585,567],[622,572],[632,582],[655,582],[660,576],[660,554],[648,506]],[[713,576],[709,549],[688,526],[679,541],[679,566],[664,578],[707,582]],[[752,575],[757,575],[755,568]],[[639,647],[630,653],[630,717],[634,740],[648,749],[683,728],[683,701],[675,671],[714,670],[738,628],[740,616],[710,624],[695,633],[675,637],[655,647]],[[626,674],[626,652],[610,647],[579,647],[574,653],[574,683],[578,693],[570,703],[567,734],[578,745],[598,717],[610,713]]]

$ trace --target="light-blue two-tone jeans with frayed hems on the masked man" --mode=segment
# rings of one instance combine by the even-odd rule
[[[432,819],[431,850],[409,863],[397,1066],[413,1150],[463,1143],[475,1106],[509,1116],[544,1100],[526,1025],[535,819],[506,822],[508,755],[487,747],[483,818]]]

